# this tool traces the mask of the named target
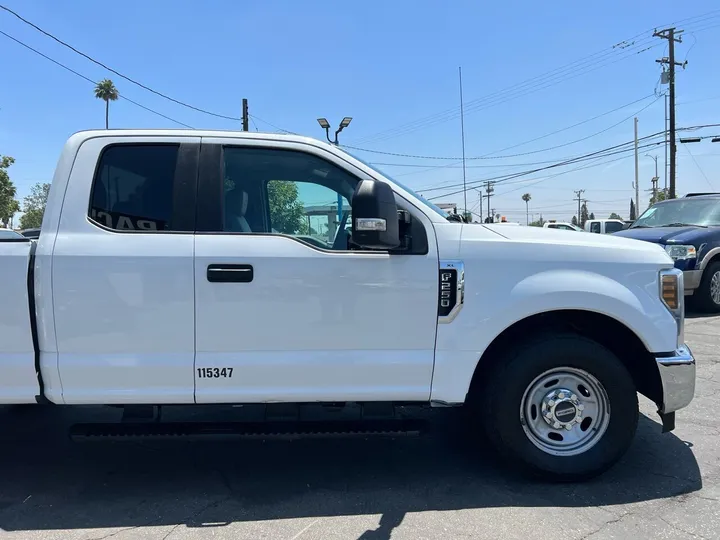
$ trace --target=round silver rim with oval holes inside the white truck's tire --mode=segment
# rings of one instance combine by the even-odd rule
[[[716,275],[720,291],[720,272]],[[595,446],[607,431],[610,401],[600,381],[587,371],[556,368],[526,388],[520,422],[528,439],[543,452],[574,456]]]

